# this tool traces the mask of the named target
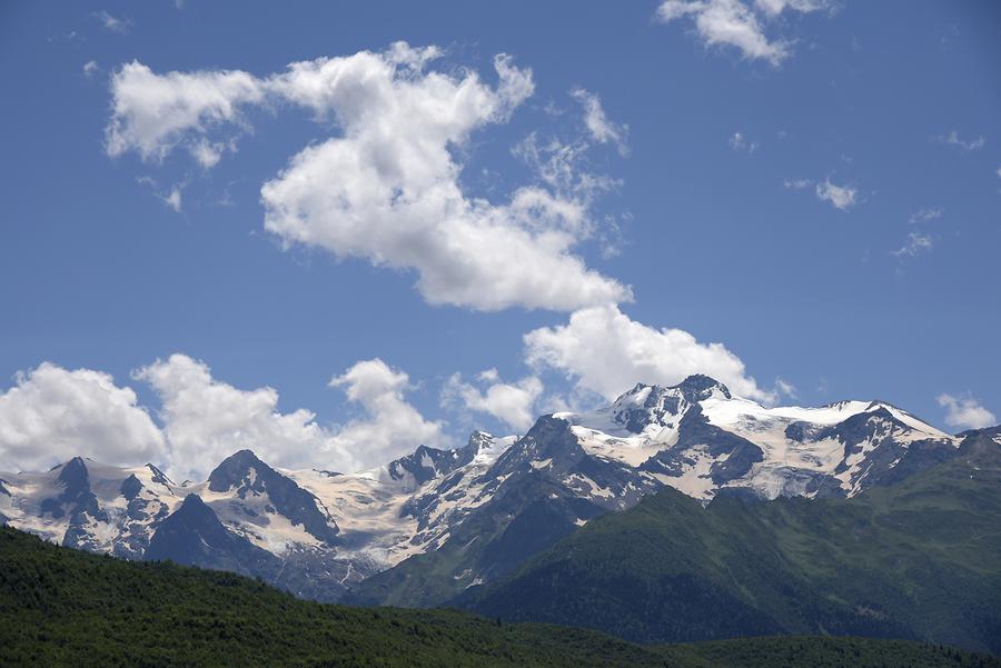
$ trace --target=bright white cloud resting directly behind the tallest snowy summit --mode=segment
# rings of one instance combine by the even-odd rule
[[[735,395],[775,400],[722,343],[700,343],[681,329],[647,327],[616,306],[578,310],[567,325],[533,330],[524,342],[531,366],[561,371],[578,390],[605,399],[614,399],[637,382],[675,385],[692,373],[705,373]]]

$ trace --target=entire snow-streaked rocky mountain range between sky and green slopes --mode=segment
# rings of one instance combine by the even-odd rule
[[[770,408],[693,376],[637,385],[593,412],[543,416],[521,438],[477,431],[462,448],[419,446],[357,473],[277,469],[250,450],[196,483],[152,465],[81,458],[0,473],[0,524],[125,558],[259,576],[324,600],[351,588],[364,602],[438,602],[663,486],[704,502],[854,496],[958,445],[885,402]]]

